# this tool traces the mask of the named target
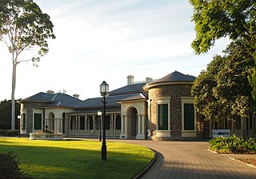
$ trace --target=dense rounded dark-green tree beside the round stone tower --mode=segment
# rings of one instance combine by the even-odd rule
[[[247,58],[242,41],[231,42],[224,54],[214,57],[192,87],[198,112],[215,121],[248,117],[256,106],[247,80],[254,59]]]

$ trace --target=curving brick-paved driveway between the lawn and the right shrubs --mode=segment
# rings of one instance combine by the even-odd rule
[[[188,141],[126,141],[158,151],[158,159],[142,178],[250,178],[256,169],[212,153],[207,142]]]

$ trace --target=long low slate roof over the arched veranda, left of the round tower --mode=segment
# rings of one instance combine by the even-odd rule
[[[140,95],[139,93],[130,93],[130,94],[122,94],[116,96],[107,96],[106,97],[106,106],[119,105],[117,101],[122,101],[123,99],[134,97]],[[86,99],[85,101],[80,102],[77,105],[77,108],[94,108],[102,106],[102,97],[94,97]]]

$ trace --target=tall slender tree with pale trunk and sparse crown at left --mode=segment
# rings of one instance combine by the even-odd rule
[[[20,62],[33,62],[37,66],[39,56],[48,52],[47,38],[55,38],[53,23],[48,14],[43,14],[33,0],[0,1],[0,40],[6,43],[13,61],[12,73],[12,113],[11,129],[14,129],[16,69]],[[24,50],[38,48],[38,56],[31,59],[19,59]]]

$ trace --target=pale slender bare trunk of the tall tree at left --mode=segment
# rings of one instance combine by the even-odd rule
[[[16,86],[16,60],[13,61],[12,88],[11,88],[11,129],[15,129],[15,86]]]

